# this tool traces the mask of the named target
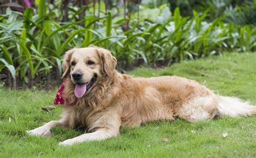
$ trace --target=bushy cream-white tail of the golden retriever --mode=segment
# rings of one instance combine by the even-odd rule
[[[242,102],[235,97],[219,96],[217,116],[246,117],[256,114],[256,106],[249,102]]]

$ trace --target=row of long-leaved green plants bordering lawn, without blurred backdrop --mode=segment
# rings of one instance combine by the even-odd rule
[[[100,18],[89,15],[63,23],[55,13],[46,10],[45,1],[39,2],[37,14],[26,8],[24,13],[7,10],[6,15],[0,16],[0,70],[8,74],[7,83],[12,76],[14,88],[17,79],[20,85],[32,87],[37,78],[43,77],[48,78],[50,85],[50,72],[58,74],[56,79],[62,73],[64,52],[90,44],[110,49],[119,69],[141,64],[167,66],[223,51],[256,48],[256,28],[225,24],[224,17],[209,23],[205,21],[207,12],[193,11],[188,18],[182,17],[176,8],[173,16],[158,22],[120,17],[116,20],[108,13]],[[79,10],[73,12],[73,17],[78,14]]]

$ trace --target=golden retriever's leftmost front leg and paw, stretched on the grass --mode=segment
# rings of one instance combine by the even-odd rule
[[[26,133],[30,135],[42,135],[45,137],[51,137],[51,128],[55,126],[64,126],[64,122],[62,120],[59,121],[50,121],[49,123],[46,123],[45,125],[35,128],[34,130],[26,131]]]

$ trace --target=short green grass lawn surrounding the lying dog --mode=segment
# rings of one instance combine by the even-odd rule
[[[184,61],[162,70],[138,68],[129,74],[183,76],[219,95],[237,96],[256,105],[256,53]],[[0,157],[256,157],[256,117],[226,117],[199,123],[180,119],[154,121],[139,127],[122,127],[116,138],[71,147],[58,146],[58,142],[83,131],[56,127],[52,138],[29,136],[26,130],[60,118],[59,106],[50,112],[41,110],[41,106],[52,104],[55,93],[0,89]],[[227,133],[225,138],[223,133]]]

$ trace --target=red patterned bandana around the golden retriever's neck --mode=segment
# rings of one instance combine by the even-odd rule
[[[65,83],[70,80],[70,78],[66,78],[63,83],[60,85],[55,100],[54,100],[54,104],[55,105],[64,105],[65,104],[65,100],[63,97],[63,90],[65,88]],[[76,102],[71,102],[71,100],[66,100],[66,102],[68,102],[69,105],[76,105]]]

